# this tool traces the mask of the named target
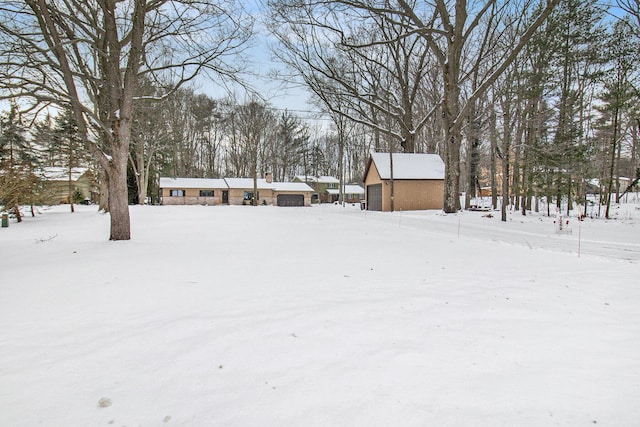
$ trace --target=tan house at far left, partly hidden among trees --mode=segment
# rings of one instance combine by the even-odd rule
[[[69,168],[49,166],[42,168],[37,175],[44,181],[49,203],[69,203],[70,190],[71,197],[79,192],[82,200],[97,198],[95,176],[89,168],[71,168],[71,176],[69,176]],[[71,185],[69,185],[69,178],[71,178]]]

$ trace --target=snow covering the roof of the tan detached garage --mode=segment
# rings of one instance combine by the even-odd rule
[[[391,179],[389,153],[373,153],[380,178]],[[393,153],[394,179],[444,179],[444,162],[437,154]]]

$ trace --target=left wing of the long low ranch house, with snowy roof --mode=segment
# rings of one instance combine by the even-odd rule
[[[219,205],[229,203],[229,186],[224,179],[160,178],[163,205]]]

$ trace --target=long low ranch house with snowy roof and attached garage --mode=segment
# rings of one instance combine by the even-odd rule
[[[313,189],[304,183],[272,182],[271,175],[253,178],[160,178],[163,205],[260,205],[311,206]]]

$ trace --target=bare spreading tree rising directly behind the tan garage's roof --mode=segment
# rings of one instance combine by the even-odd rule
[[[341,2],[269,2],[274,54],[321,99],[323,109],[366,125],[414,152],[428,124],[421,109],[429,48],[407,22]],[[380,39],[384,42],[380,42]],[[333,120],[335,123],[335,120]]]

